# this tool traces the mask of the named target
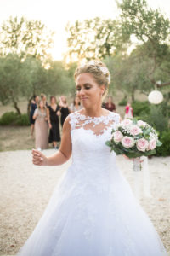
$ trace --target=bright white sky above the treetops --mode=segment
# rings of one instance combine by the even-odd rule
[[[170,1],[147,0],[147,3],[170,18]],[[9,16],[26,16],[28,20],[42,20],[55,32],[51,50],[54,60],[61,60],[66,50],[65,26],[68,22],[73,24],[76,20],[96,16],[116,19],[118,15],[115,0],[0,0],[0,24]]]

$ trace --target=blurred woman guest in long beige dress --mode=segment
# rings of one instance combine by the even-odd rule
[[[36,148],[38,150],[48,148],[47,108],[42,100],[38,103],[33,119],[35,120]]]

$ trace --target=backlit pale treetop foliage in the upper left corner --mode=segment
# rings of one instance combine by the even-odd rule
[[[40,20],[26,20],[25,17],[10,17],[1,27],[1,54],[9,52],[26,59],[31,55],[48,61],[48,49],[53,45],[54,32],[48,31]]]

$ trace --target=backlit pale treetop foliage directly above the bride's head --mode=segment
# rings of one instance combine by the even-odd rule
[[[67,57],[70,60],[105,59],[124,47],[119,20],[101,20],[96,17],[93,20],[76,21],[73,25],[68,24],[66,31]]]

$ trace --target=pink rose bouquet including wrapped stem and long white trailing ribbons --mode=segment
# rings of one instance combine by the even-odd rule
[[[112,129],[111,139],[105,143],[117,155],[124,154],[127,158],[133,159],[136,195],[139,197],[143,181],[144,195],[151,197],[148,156],[156,154],[156,147],[162,144],[156,130],[143,120],[124,119]],[[144,170],[143,178],[142,172],[139,172],[141,169]]]

